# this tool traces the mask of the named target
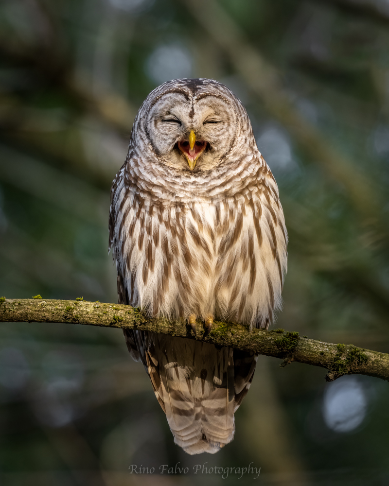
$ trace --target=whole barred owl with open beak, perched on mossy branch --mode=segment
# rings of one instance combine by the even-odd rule
[[[214,318],[267,329],[281,307],[287,233],[276,181],[226,86],[179,79],[146,98],[112,185],[109,247],[120,303],[194,331],[201,320],[204,335]],[[124,337],[176,444],[214,453],[232,440],[256,354],[137,330]]]

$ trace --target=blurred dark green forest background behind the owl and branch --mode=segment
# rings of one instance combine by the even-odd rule
[[[237,94],[276,176],[277,326],[388,352],[387,0],[2,0],[0,295],[117,301],[111,181],[140,104],[179,77]],[[128,467],[253,462],[263,485],[388,485],[388,384],[279,363],[260,357],[234,441],[191,457],[120,330],[1,324],[1,484],[232,484]]]

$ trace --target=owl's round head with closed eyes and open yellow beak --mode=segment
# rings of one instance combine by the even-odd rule
[[[157,87],[142,104],[135,127],[133,137],[145,135],[141,141],[160,163],[192,174],[222,164],[242,137],[255,145],[244,106],[229,88],[210,79],[178,79]]]

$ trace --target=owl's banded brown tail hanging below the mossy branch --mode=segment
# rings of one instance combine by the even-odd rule
[[[136,342],[144,353],[138,359],[175,443],[188,454],[213,454],[228,444],[235,432],[234,411],[247,393],[257,356],[166,334],[126,333],[134,333],[126,336],[127,346]]]

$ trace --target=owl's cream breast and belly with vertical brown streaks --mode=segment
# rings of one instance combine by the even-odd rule
[[[281,307],[286,230],[271,191],[158,205],[127,197],[113,235],[129,302],[169,319],[267,328]]]

